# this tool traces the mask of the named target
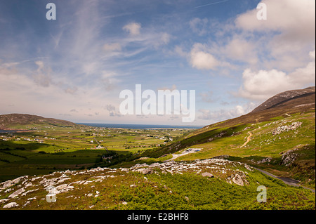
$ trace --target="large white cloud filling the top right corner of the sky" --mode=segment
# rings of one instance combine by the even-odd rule
[[[314,0],[263,0],[267,20],[257,20],[257,9],[243,13],[236,25],[249,31],[282,31],[287,39],[315,39]]]

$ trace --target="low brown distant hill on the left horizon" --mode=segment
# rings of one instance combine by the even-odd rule
[[[77,126],[70,121],[44,118],[31,114],[3,114],[0,115],[0,130],[23,129],[27,125]]]

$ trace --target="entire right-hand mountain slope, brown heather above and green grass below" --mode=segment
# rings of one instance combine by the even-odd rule
[[[293,94],[287,97],[278,94],[267,100],[268,108],[259,106],[241,117],[205,126],[141,157],[158,158],[197,148],[198,152],[175,160],[224,157],[315,188],[315,87],[308,88],[308,93],[298,92],[288,91]]]

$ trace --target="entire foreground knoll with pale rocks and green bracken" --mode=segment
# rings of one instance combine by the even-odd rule
[[[55,187],[56,202],[46,201],[48,185]],[[265,203],[257,201],[260,185],[267,189]],[[60,210],[315,209],[315,194],[240,162],[206,159],[24,176],[0,184],[0,204],[2,209],[13,204],[10,209]]]

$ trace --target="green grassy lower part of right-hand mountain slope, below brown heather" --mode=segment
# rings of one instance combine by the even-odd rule
[[[278,127],[295,122],[301,122],[301,126],[272,134]],[[250,141],[242,147],[249,132],[252,134]],[[201,151],[178,157],[176,161],[227,155],[228,159],[265,169],[277,176],[300,180],[302,185],[315,189],[315,111],[273,117],[255,124],[230,126],[220,122],[189,133],[162,149],[144,152],[144,156],[159,158],[187,147],[200,148]],[[280,164],[282,155],[289,150],[296,154],[294,162]],[[270,162],[261,162],[265,158],[270,158]]]

